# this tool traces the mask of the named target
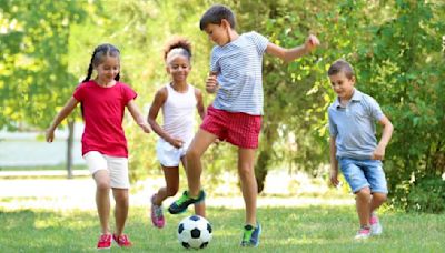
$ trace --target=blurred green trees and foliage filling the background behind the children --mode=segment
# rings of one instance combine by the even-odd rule
[[[212,44],[198,22],[212,3],[0,0],[0,129],[47,128],[85,78],[93,48],[103,42],[121,50],[122,80],[138,92],[144,113],[155,91],[169,81],[162,49],[174,34],[191,41],[189,82],[204,89]],[[256,164],[259,191],[271,170],[305,171],[327,180],[326,109],[335,94],[326,70],[344,58],[355,67],[357,88],[380,103],[395,126],[385,160],[390,203],[407,211],[444,211],[443,1],[219,3],[234,10],[239,33],[256,30],[286,48],[301,44],[308,33],[322,41],[310,55],[289,64],[265,57],[265,115]],[[205,94],[205,103],[211,101],[212,95]],[[78,112],[67,125],[72,128],[75,121],[81,121]],[[132,180],[159,174],[155,134],[144,134],[131,120],[125,128]],[[215,185],[222,173],[236,176],[236,149],[214,145],[204,164],[206,180]]]

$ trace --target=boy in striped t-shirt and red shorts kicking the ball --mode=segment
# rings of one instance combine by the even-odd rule
[[[226,140],[238,146],[238,174],[246,205],[240,245],[258,246],[261,226],[256,219],[258,189],[254,165],[263,115],[263,54],[288,62],[309,53],[319,42],[309,36],[303,45],[284,49],[257,32],[238,34],[233,11],[220,4],[205,12],[199,26],[216,43],[206,90],[217,94],[186,154],[189,190],[170,205],[169,212],[184,212],[205,199],[200,159],[216,139]]]

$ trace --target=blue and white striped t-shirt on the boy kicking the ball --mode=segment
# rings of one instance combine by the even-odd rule
[[[268,39],[257,32],[240,34],[236,40],[211,51],[210,70],[218,72],[219,90],[214,108],[263,115],[263,55]]]

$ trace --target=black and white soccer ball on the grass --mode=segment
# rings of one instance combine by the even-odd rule
[[[202,216],[188,216],[179,222],[178,240],[186,249],[204,249],[211,240],[211,225]]]

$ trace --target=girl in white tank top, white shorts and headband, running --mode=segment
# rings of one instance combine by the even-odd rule
[[[185,154],[195,133],[195,108],[201,119],[206,113],[201,91],[187,82],[191,44],[181,38],[172,39],[167,43],[164,60],[171,82],[156,92],[148,113],[148,122],[159,135],[156,151],[166,179],[166,186],[151,196],[151,222],[159,229],[165,225],[162,201],[178,192],[179,163],[185,164]],[[162,128],[156,122],[161,108]],[[205,216],[204,203],[196,203],[195,212]]]

